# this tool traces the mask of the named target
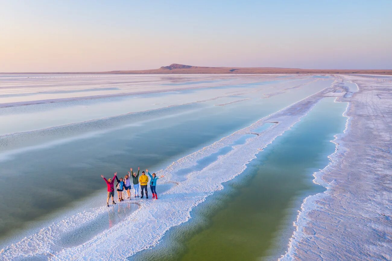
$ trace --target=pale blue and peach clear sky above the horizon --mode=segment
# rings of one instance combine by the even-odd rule
[[[0,0],[0,72],[392,69],[392,1]]]

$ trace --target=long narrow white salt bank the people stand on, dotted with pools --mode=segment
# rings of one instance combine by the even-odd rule
[[[53,260],[122,260],[136,252],[152,247],[171,227],[186,222],[190,218],[192,208],[204,201],[214,191],[222,189],[223,182],[241,174],[245,170],[246,164],[255,158],[261,149],[290,129],[327,92],[329,91],[321,91],[294,103],[157,172],[158,175],[165,174],[165,178],[161,179],[162,183],[178,180],[181,182],[160,195],[158,201],[143,201],[141,207],[125,217],[121,223],[80,245],[67,248],[57,245],[54,239],[62,235],[62,226],[60,225],[56,231],[53,227],[44,228],[38,234],[26,237],[3,249],[0,254],[5,260],[21,260],[27,256],[47,257]],[[278,123],[263,130],[262,135],[252,135],[245,143],[236,142],[268,122]],[[232,146],[232,150],[218,156],[215,161],[203,169],[185,175],[181,173],[181,170],[194,168],[198,165],[198,161],[219,152],[221,148],[226,146]],[[94,219],[94,214],[91,214],[91,219]],[[65,228],[69,223],[69,221],[62,222]]]

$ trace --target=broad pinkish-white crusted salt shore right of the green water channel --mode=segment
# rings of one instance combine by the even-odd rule
[[[338,77],[352,93],[338,98],[349,102],[346,129],[336,135],[331,163],[314,175],[327,190],[303,202],[281,261],[392,258],[392,75]]]

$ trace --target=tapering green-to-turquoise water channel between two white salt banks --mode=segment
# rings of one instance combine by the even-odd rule
[[[265,260],[284,254],[302,199],[324,190],[312,183],[312,173],[328,164],[346,105],[322,100],[243,174],[196,207],[189,222],[131,259]]]

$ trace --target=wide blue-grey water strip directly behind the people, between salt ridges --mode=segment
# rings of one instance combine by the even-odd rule
[[[252,93],[238,94],[226,101],[250,100],[226,106],[215,106],[222,101],[212,100],[4,137],[3,150],[16,147],[22,151],[10,155],[5,151],[0,178],[19,181],[18,190],[23,193],[15,193],[7,183],[0,184],[1,196],[13,195],[12,200],[0,203],[1,238],[22,236],[19,232],[31,221],[44,221],[45,216],[104,191],[101,174],[111,176],[117,171],[125,176],[129,167],[138,166],[158,170],[331,82],[310,83],[268,99],[253,98]],[[219,88],[228,92],[233,87]],[[59,143],[51,144],[52,139]],[[25,147],[27,144],[40,147]],[[102,202],[86,204],[90,208]]]

